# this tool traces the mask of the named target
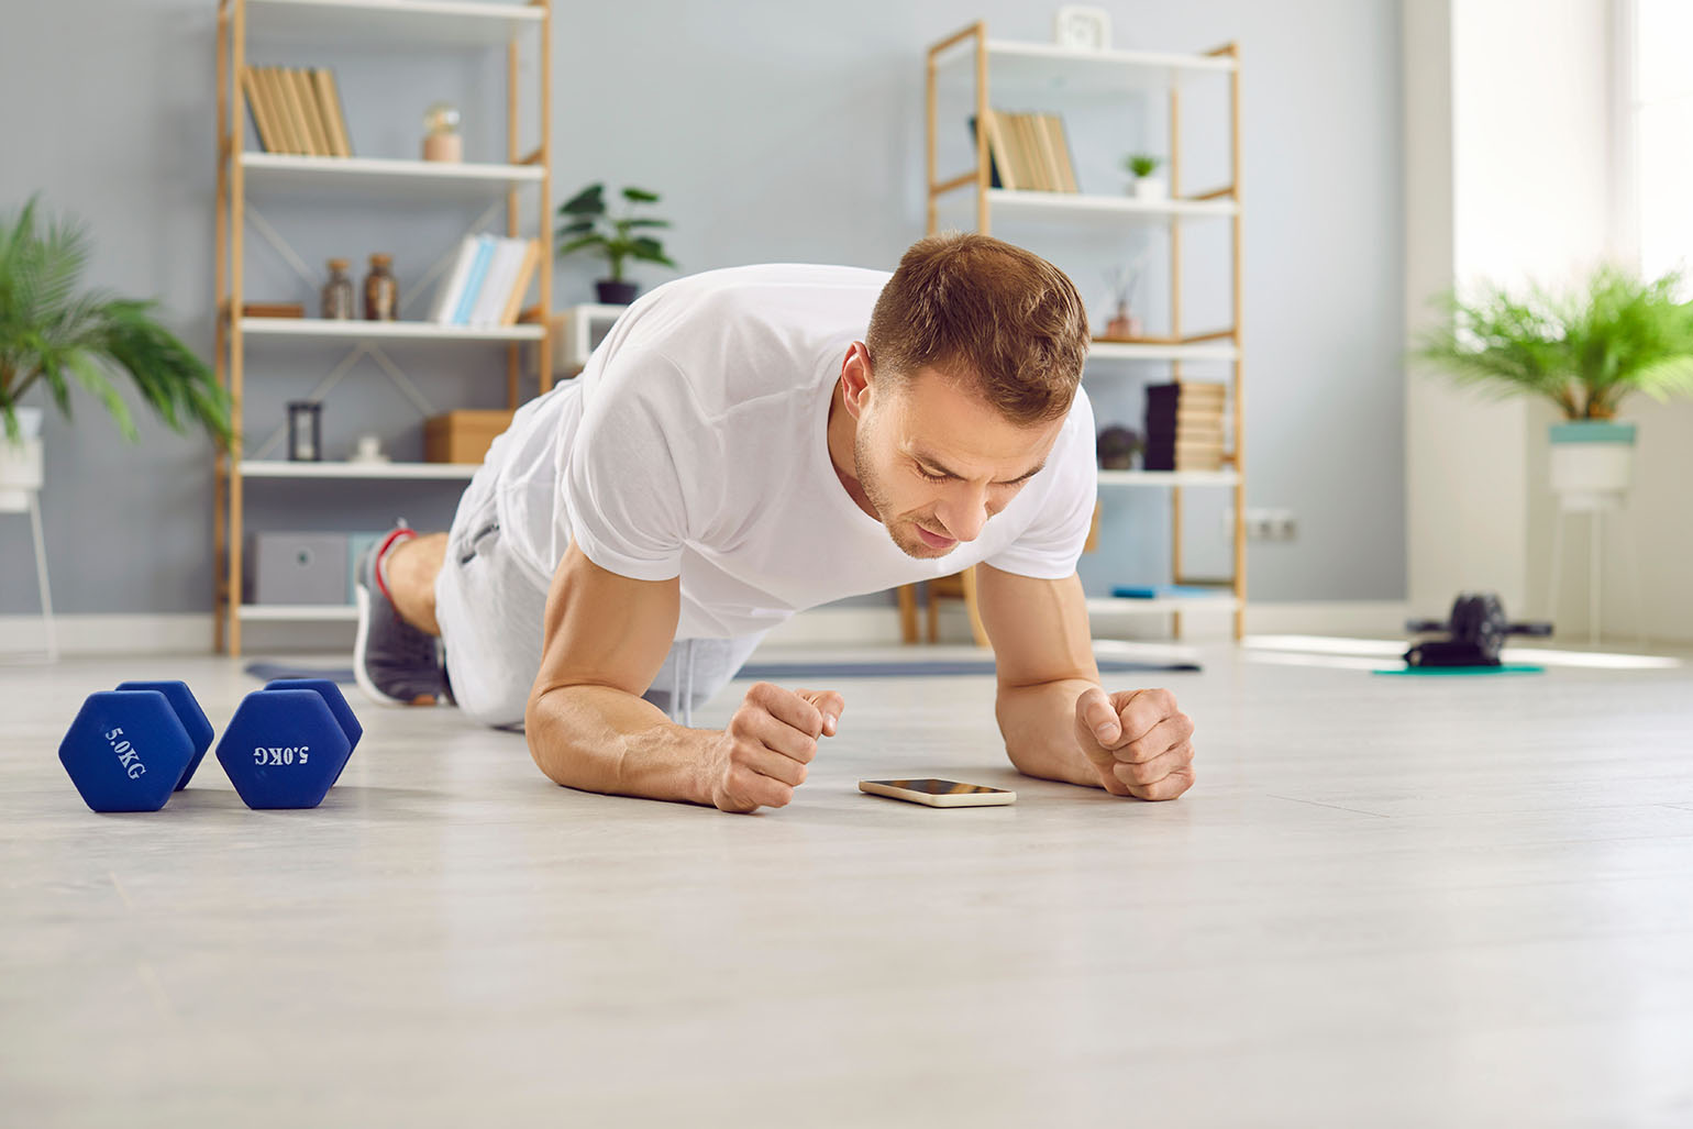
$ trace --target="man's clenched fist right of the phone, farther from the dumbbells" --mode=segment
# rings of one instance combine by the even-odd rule
[[[1075,740],[1112,796],[1175,799],[1194,787],[1194,721],[1170,691],[1084,691]]]

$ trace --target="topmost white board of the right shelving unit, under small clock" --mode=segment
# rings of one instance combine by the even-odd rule
[[[936,64],[938,78],[975,81],[975,41],[965,39]],[[1007,86],[1055,93],[1109,95],[1168,90],[1183,80],[1229,74],[1229,56],[1172,51],[1075,51],[1056,44],[987,41],[987,83],[997,96]]]

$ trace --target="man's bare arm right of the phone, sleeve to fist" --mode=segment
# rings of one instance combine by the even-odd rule
[[[999,675],[994,713],[1017,772],[1139,799],[1194,787],[1194,723],[1175,696],[1100,687],[1080,577],[977,565],[977,604]]]

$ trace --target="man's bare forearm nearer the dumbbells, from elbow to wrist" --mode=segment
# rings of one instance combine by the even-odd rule
[[[525,713],[530,755],[555,784],[645,799],[711,804],[701,770],[718,738],[604,686],[537,694]]]

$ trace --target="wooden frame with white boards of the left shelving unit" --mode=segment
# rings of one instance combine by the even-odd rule
[[[505,46],[506,54],[506,164],[427,166],[418,161],[372,157],[301,157],[245,151],[247,98],[240,74],[247,66],[249,36],[290,44],[339,44],[376,54],[406,46],[455,47],[486,51]],[[523,151],[520,51],[525,36],[537,37],[540,144]],[[213,459],[215,553],[213,643],[218,652],[240,655],[242,620],[276,618],[242,606],[244,486],[247,467],[259,477],[308,477],[305,474],[266,474],[271,464],[244,460],[245,443],[245,350],[247,337],[274,342],[345,339],[369,347],[371,339],[384,340],[486,340],[506,350],[506,401],[518,406],[523,347],[535,345],[538,389],[552,388],[552,0],[523,3],[462,3],[459,0],[218,0],[217,7],[217,217],[215,217],[215,354],[217,377],[229,391],[234,440]],[[251,181],[249,184],[249,173]],[[330,327],[303,323],[279,327],[271,320],[229,317],[245,298],[245,229],[247,198],[252,188],[313,191],[322,183],[367,191],[372,186],[403,191],[450,203],[455,198],[505,195],[506,235],[518,237],[523,227],[521,195],[530,188],[535,237],[542,259],[537,269],[540,296],[520,315],[518,327],[501,330],[466,330],[466,327],[420,328],[418,325]],[[498,208],[498,203],[494,205]],[[400,474],[366,472],[369,479],[459,479],[460,472]],[[344,613],[337,613],[337,618]],[[288,616],[306,618],[306,616]]]

